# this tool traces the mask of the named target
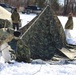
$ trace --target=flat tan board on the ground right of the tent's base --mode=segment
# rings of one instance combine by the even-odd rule
[[[76,50],[74,49],[62,48],[62,49],[59,49],[59,51],[61,51],[65,56],[67,56],[71,60],[76,59]]]

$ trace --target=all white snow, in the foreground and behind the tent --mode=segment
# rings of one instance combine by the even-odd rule
[[[20,14],[22,26],[27,24],[36,15]],[[67,17],[58,16],[63,28],[67,21]],[[67,42],[76,45],[76,18],[73,18],[74,29],[68,31]],[[65,31],[65,29],[64,29]],[[69,36],[69,34],[71,36]],[[38,60],[39,61],[39,60]],[[4,59],[0,58],[0,75],[76,75],[76,61],[63,61],[49,63],[24,63],[12,61],[13,64],[4,63]]]

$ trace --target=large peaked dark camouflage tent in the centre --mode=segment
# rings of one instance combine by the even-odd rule
[[[22,40],[30,48],[31,58],[51,59],[59,54],[58,49],[66,46],[63,27],[49,5],[26,26]]]

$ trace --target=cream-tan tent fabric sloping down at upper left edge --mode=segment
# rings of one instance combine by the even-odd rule
[[[0,6],[0,19],[7,19],[11,21],[11,13]]]

